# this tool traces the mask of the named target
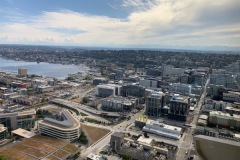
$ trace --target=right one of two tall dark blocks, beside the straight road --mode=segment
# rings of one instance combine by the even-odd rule
[[[168,118],[177,121],[186,121],[190,109],[190,98],[175,94],[170,99]]]

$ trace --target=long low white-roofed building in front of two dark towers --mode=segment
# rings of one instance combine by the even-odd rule
[[[173,139],[180,139],[182,128],[148,120],[146,126],[143,127],[143,131]]]

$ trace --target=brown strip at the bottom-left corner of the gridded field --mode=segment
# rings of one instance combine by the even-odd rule
[[[7,155],[9,157],[11,157],[12,159],[16,159],[16,160],[34,160],[33,158],[25,155],[25,154],[22,154],[20,152],[17,152],[13,149],[2,149],[0,150],[0,153],[4,154],[4,155]]]

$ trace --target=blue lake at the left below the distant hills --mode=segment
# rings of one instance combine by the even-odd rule
[[[62,65],[44,62],[24,62],[6,60],[0,57],[0,70],[17,72],[18,68],[27,68],[28,74],[50,76],[58,79],[64,79],[68,76],[68,74],[84,72],[88,70],[88,68],[84,65]]]

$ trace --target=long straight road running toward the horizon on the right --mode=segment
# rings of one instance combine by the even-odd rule
[[[202,103],[204,101],[204,98],[206,97],[206,90],[207,86],[209,85],[210,77],[208,77],[205,86],[203,88],[203,93],[198,101],[197,107],[193,111],[193,114],[195,115],[192,122],[191,122],[191,128],[188,128],[187,131],[183,134],[183,137],[180,140],[179,150],[176,155],[176,160],[185,160],[190,155],[190,151],[193,149],[193,133],[194,129],[196,128],[197,121],[199,118],[199,114],[201,113],[202,109]],[[187,153],[187,154],[186,154]]]

